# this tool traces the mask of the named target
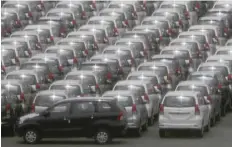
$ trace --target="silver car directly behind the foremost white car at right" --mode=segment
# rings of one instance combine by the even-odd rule
[[[175,91],[200,91],[205,99],[210,102],[211,126],[221,117],[221,96],[210,90],[210,86],[203,81],[183,81],[180,82]]]

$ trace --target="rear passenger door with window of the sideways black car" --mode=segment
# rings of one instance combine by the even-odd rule
[[[94,102],[72,102],[68,118],[72,136],[85,136],[91,131],[95,111]]]

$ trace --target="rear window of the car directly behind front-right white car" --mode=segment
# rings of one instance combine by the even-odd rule
[[[207,88],[205,86],[197,86],[197,85],[191,85],[191,86],[178,86],[178,91],[200,91],[204,96],[208,95]]]

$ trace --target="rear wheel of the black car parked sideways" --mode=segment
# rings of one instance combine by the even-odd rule
[[[112,141],[110,132],[107,129],[98,129],[94,139],[97,144],[107,144]]]

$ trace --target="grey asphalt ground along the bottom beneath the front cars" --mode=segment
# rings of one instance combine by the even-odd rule
[[[221,122],[211,128],[199,139],[187,132],[174,132],[167,138],[160,139],[158,127],[155,124],[144,132],[141,138],[129,135],[127,138],[115,139],[114,142],[106,146],[117,147],[231,147],[232,141],[232,113],[222,118]],[[2,147],[95,147],[93,140],[85,138],[72,139],[43,139],[37,145],[25,145],[22,138],[2,137]]]

